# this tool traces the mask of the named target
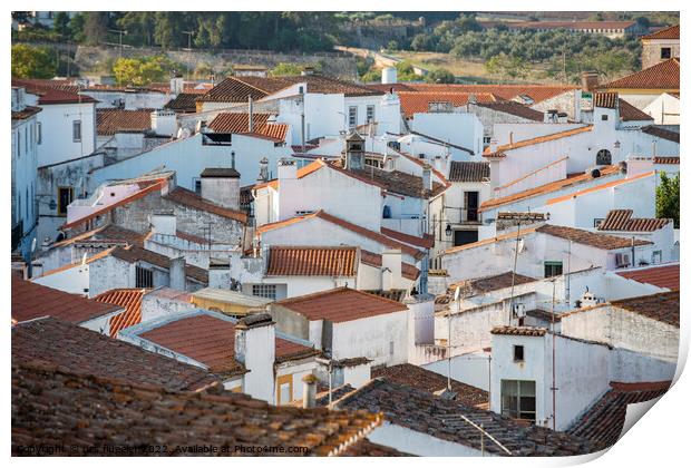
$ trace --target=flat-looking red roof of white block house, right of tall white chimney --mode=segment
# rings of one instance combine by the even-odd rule
[[[408,310],[405,304],[349,287],[337,287],[274,302],[308,320],[350,322]]]

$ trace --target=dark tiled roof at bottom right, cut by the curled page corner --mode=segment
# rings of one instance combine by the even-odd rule
[[[671,383],[670,381],[633,384],[611,382],[610,391],[578,418],[567,432],[592,440],[601,450],[611,447],[622,435],[627,406],[663,396]]]

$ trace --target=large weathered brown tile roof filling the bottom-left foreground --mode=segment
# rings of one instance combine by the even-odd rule
[[[242,393],[174,392],[55,367],[12,367],[13,455],[59,441],[79,454],[119,447],[132,450],[127,455],[159,456],[147,448],[163,447],[169,456],[338,456],[380,423],[380,415],[367,411],[275,407]],[[263,454],[266,447],[281,451]]]

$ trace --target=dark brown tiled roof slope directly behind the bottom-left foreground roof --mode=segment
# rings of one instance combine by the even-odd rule
[[[220,382],[197,367],[52,318],[12,328],[12,364],[37,361],[67,372],[171,390],[198,390]]]

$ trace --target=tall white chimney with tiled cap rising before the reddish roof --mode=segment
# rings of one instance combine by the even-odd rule
[[[257,313],[241,319],[235,325],[235,360],[249,371],[245,392],[260,400],[274,402],[275,325],[271,315]]]

